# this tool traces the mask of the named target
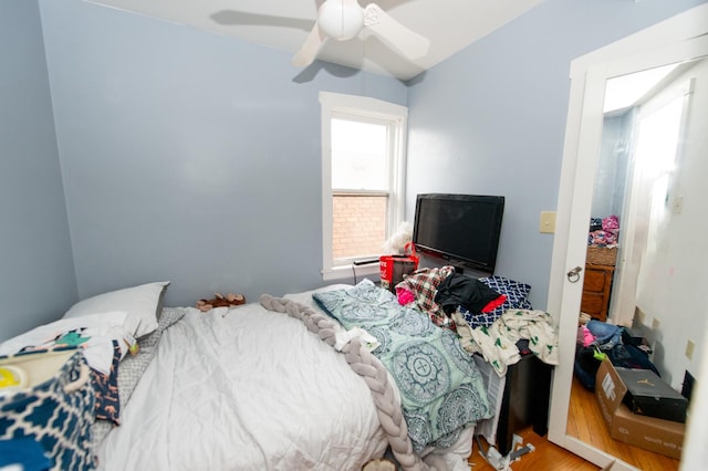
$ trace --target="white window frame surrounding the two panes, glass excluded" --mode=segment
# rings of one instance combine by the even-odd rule
[[[391,197],[386,237],[400,224],[405,210],[405,156],[408,108],[367,96],[320,92],[322,107],[322,279],[341,280],[352,278],[352,264],[334,264],[332,253],[332,132],[333,117],[353,116],[386,121],[391,126],[389,145],[392,161],[389,168]],[[383,242],[383,241],[382,241]],[[357,275],[378,272],[378,264],[357,268]]]

